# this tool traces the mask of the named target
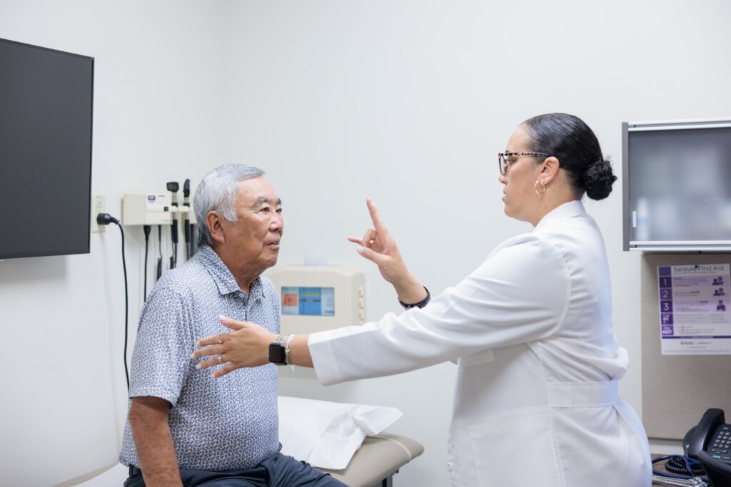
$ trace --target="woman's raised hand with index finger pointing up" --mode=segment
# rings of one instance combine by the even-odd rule
[[[366,199],[366,204],[371,212],[374,228],[368,229],[363,238],[348,237],[348,240],[360,245],[358,253],[378,266],[379,272],[393,285],[402,302],[420,302],[425,298],[426,291],[406,268],[395,240],[381,220],[376,204],[370,198]]]

